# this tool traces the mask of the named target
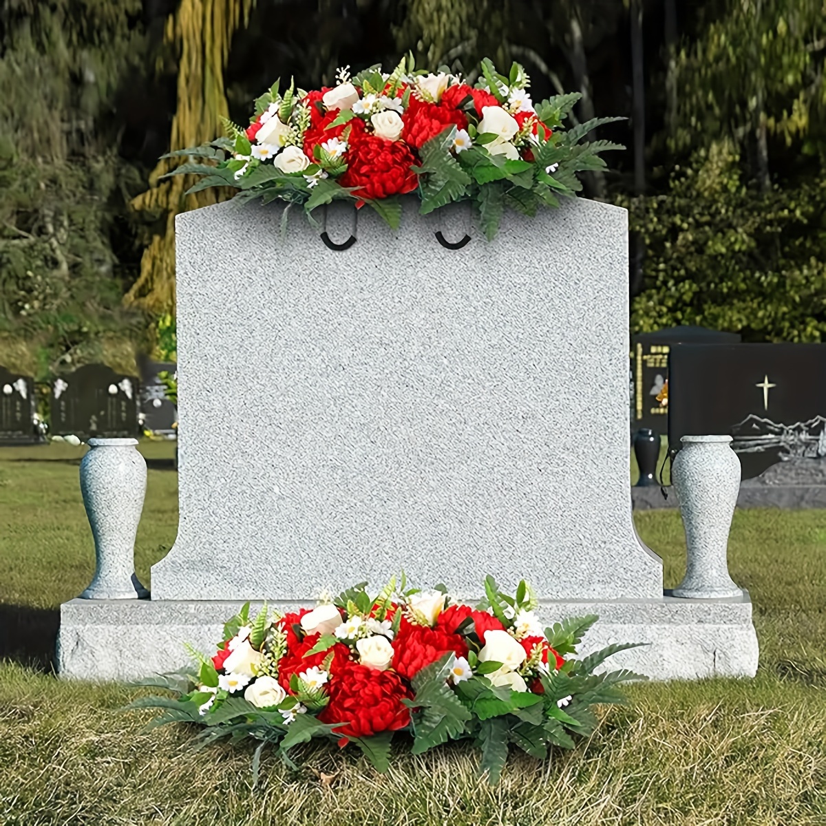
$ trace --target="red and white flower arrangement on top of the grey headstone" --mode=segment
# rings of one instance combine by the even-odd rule
[[[188,159],[169,174],[203,176],[189,192],[235,188],[242,199],[300,205],[311,220],[335,199],[368,204],[393,228],[401,221],[398,197],[408,192],[420,197],[422,214],[469,200],[492,239],[506,207],[527,216],[558,207],[560,196],[582,189],[577,173],[605,169],[600,153],[623,149],[582,142],[622,118],[565,129],[581,96],[534,106],[517,63],[504,75],[484,59],[473,85],[446,67],[416,70],[412,55],[389,74],[379,65],[353,77],[348,69],[330,88],[290,83],[281,91],[276,81],[255,101],[249,126],[225,120],[224,137],[165,155]]]

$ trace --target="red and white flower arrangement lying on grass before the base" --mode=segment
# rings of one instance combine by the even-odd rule
[[[543,630],[525,582],[509,596],[487,577],[476,607],[453,601],[444,587],[406,590],[404,577],[377,596],[366,586],[286,615],[264,605],[251,616],[244,605],[211,657],[189,648],[192,673],[138,683],[173,697],[142,697],[130,707],[163,709],[150,727],[202,726],[203,744],[259,741],[256,777],[268,743],[294,767],[293,749],[311,738],[354,743],[384,770],[394,733],[406,731],[414,754],[470,740],[495,783],[510,743],[539,759],[549,747],[573,748],[574,736],[596,726],[594,705],[623,702],[617,686],[644,679],[594,673],[633,643],[572,657],[597,617]]]

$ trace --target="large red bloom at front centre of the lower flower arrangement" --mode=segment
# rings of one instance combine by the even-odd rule
[[[308,657],[309,658],[309,657]],[[330,702],[318,715],[322,723],[343,723],[336,734],[339,745],[349,737],[370,737],[382,731],[403,729],[410,723],[410,710],[401,700],[413,693],[393,672],[375,671],[347,662],[330,680]]]

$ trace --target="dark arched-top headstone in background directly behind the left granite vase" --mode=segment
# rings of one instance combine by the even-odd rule
[[[104,364],[87,364],[52,382],[51,432],[80,439],[138,434],[139,382]]]

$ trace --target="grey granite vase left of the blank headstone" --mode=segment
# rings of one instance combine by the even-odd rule
[[[89,439],[80,463],[80,490],[95,540],[96,569],[80,595],[87,600],[135,600],[149,591],[135,576],[135,534],[146,494],[146,463],[137,439]]]

